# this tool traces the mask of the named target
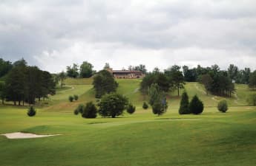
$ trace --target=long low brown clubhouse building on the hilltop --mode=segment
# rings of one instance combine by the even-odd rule
[[[113,77],[115,78],[142,78],[145,77],[143,72],[136,71],[136,70],[113,70],[113,69],[107,69],[108,72],[111,72]]]

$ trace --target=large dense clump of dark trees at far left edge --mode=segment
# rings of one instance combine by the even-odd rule
[[[37,66],[27,66],[22,59],[11,64],[0,83],[1,101],[13,101],[14,105],[35,104],[36,99],[45,99],[48,94],[55,94],[56,81],[49,72]]]

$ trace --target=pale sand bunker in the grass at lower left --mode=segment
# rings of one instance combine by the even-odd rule
[[[29,139],[29,138],[42,138],[47,136],[59,136],[61,134],[37,135],[37,134],[16,132],[16,133],[8,133],[8,134],[1,134],[1,135],[6,136],[8,139]]]

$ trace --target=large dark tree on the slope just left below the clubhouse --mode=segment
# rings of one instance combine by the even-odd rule
[[[104,94],[116,91],[118,83],[114,80],[113,75],[107,70],[99,71],[93,77],[93,88],[95,89],[95,97],[100,98]]]

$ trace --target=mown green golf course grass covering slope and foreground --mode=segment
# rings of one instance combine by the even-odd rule
[[[233,97],[229,111],[222,114],[214,96],[204,94],[197,83],[187,83],[189,97],[197,94],[205,103],[203,114],[179,115],[180,98],[171,95],[167,113],[157,117],[150,108],[141,108],[140,80],[118,82],[118,91],[137,106],[133,115],[94,120],[73,115],[79,103],[94,101],[89,83],[58,90],[50,106],[37,108],[36,117],[27,117],[26,107],[0,106],[0,134],[62,134],[37,139],[0,136],[0,165],[255,165],[256,108],[243,103],[246,87],[237,89],[240,102]],[[69,103],[71,94],[78,94],[79,100]]]

